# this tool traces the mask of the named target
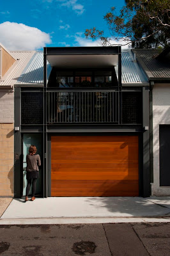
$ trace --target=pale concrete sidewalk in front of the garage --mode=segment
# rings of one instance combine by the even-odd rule
[[[0,224],[170,221],[170,196],[13,199]]]

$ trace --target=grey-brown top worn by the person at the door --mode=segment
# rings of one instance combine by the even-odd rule
[[[38,166],[41,165],[40,155],[27,154],[26,162],[27,162],[27,168],[26,168],[27,172],[39,171]]]

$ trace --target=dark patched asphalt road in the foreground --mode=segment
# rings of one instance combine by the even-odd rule
[[[169,256],[170,223],[0,225],[0,255]]]

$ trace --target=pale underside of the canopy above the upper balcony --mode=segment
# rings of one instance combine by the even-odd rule
[[[118,65],[118,54],[48,54],[47,60],[58,68],[107,68]]]

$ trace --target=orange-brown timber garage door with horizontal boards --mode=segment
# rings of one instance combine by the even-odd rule
[[[138,136],[52,136],[51,196],[138,196]]]

